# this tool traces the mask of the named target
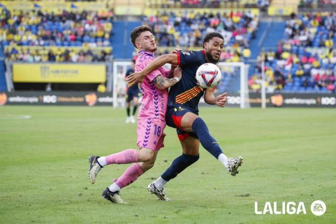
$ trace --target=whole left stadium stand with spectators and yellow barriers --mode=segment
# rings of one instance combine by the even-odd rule
[[[5,62],[109,62],[113,1],[17,1],[0,7],[0,91]]]

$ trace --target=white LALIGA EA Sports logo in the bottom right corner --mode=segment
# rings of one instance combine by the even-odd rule
[[[314,215],[320,216],[323,215],[326,211],[326,205],[324,202],[317,200],[312,203],[311,205],[311,211]],[[255,214],[257,215],[264,215],[269,213],[270,215],[275,214],[300,214],[303,213],[304,215],[307,214],[304,203],[299,202],[299,204],[296,206],[295,202],[283,202],[282,207],[278,208],[277,203],[273,202],[273,206],[270,202],[266,202],[264,206],[264,210],[259,211],[258,210],[258,202],[255,202]]]

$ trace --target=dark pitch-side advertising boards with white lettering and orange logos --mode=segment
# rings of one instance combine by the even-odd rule
[[[240,105],[240,94],[230,94],[228,106]],[[261,106],[258,93],[249,93],[246,98],[251,107]],[[6,105],[79,105],[79,106],[113,106],[113,93],[97,92],[44,92],[17,91],[1,92],[0,106]],[[119,103],[119,102],[117,102]],[[203,98],[200,106],[205,106]],[[266,95],[267,107],[331,107],[336,108],[336,94],[294,94],[274,93]]]

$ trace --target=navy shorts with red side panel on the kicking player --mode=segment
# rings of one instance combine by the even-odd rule
[[[165,115],[165,122],[167,123],[168,126],[172,128],[176,128],[177,136],[179,137],[180,141],[183,141],[189,136],[197,138],[197,139],[199,138],[195,132],[183,131],[181,127],[182,117],[188,112],[198,115],[191,109],[188,109],[183,106],[167,107],[167,112]]]

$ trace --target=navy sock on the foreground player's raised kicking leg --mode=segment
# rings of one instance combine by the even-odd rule
[[[211,153],[216,159],[223,153],[216,142],[216,140],[210,135],[209,129],[205,122],[201,118],[197,118],[192,123],[192,131],[197,134],[202,146]]]

